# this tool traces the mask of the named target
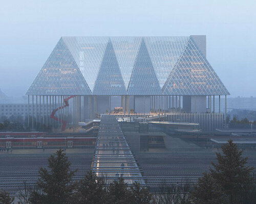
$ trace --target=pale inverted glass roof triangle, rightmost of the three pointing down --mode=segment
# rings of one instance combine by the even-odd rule
[[[162,88],[181,56],[189,37],[144,37],[144,40]]]

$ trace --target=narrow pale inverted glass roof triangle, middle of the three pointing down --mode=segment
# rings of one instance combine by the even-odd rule
[[[127,89],[142,37],[111,37],[119,68]]]

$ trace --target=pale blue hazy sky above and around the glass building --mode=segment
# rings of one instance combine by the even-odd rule
[[[61,36],[206,35],[231,96],[256,96],[254,1],[1,1],[0,89],[22,96]]]

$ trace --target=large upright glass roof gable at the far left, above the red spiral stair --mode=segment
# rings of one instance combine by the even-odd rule
[[[88,95],[91,91],[62,38],[29,87],[27,95]]]

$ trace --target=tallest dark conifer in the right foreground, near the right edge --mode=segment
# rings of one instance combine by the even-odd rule
[[[223,154],[216,152],[218,163],[211,163],[211,175],[219,184],[223,192],[228,196],[230,203],[236,203],[244,199],[251,183],[253,167],[246,166],[248,158],[242,158],[242,150],[228,140],[228,144],[221,147]]]

